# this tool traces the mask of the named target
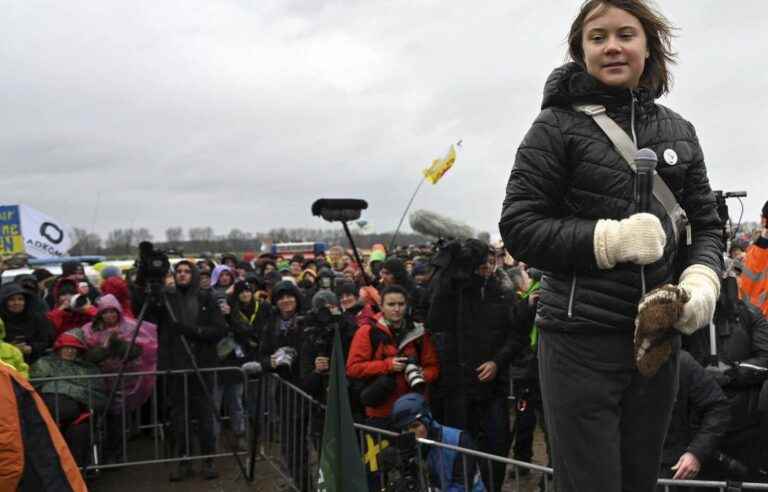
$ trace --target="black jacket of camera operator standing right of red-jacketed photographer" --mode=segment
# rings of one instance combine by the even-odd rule
[[[461,295],[436,289],[426,323],[440,358],[435,394],[463,390],[475,399],[506,395],[509,364],[528,345],[530,325],[521,315],[495,277],[473,275]],[[496,363],[498,373],[492,382],[481,383],[476,369],[488,361]]]

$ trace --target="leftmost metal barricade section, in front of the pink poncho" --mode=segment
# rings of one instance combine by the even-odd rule
[[[218,386],[220,384],[221,376],[225,373],[233,373],[238,379],[242,378],[243,401],[248,402],[250,400],[248,394],[248,376],[241,368],[201,368],[200,372],[210,382],[207,384],[210,384],[208,389],[212,393],[212,397],[213,395],[219,393]],[[81,387],[84,387],[87,391],[87,411],[84,412],[83,415],[81,415],[82,418],[79,419],[81,421],[87,419],[88,421],[88,450],[90,456],[87,459],[87,463],[79,463],[85,470],[101,470],[108,468],[120,468],[125,466],[173,463],[186,460],[192,461],[232,456],[232,451],[230,451],[229,446],[219,446],[215,452],[208,454],[195,453],[195,450],[192,448],[191,443],[193,439],[190,437],[193,436],[193,434],[191,426],[195,423],[200,425],[200,422],[192,421],[190,419],[190,416],[193,413],[189,408],[190,381],[192,381],[191,378],[196,378],[196,375],[192,369],[126,372],[121,378],[121,386],[118,392],[125,392],[127,384],[126,381],[129,381],[131,378],[141,376],[154,376],[156,378],[154,387],[152,389],[152,394],[149,396],[149,399],[143,405],[137,409],[134,409],[133,411],[129,411],[126,408],[125,400],[121,399],[120,401],[122,404],[118,405],[118,411],[107,413],[104,413],[103,409],[99,407],[100,398],[97,394],[96,385],[98,384],[97,382],[108,382],[110,380],[116,380],[118,375],[115,373],[37,378],[31,379],[30,382],[36,388],[38,388],[38,390],[42,387],[42,385],[47,386],[47,391],[44,393],[44,395],[47,395],[46,399],[49,401],[51,399],[53,400],[52,403],[49,403],[49,406],[51,407],[52,417],[57,422],[57,424],[59,424],[60,428],[62,426],[66,428],[67,425],[72,424],[71,418],[67,418],[66,421],[63,421],[63,417],[65,416],[62,415],[61,407],[62,402],[64,401],[64,394],[60,393],[60,387],[63,387],[64,384],[77,384]],[[183,412],[186,421],[184,434],[184,440],[186,442],[186,452],[184,453],[185,456],[177,456],[177,453],[175,452],[176,450],[173,449],[169,443],[169,441],[171,441],[171,434],[173,434],[169,432],[170,409],[167,408],[167,403],[169,402],[169,381],[171,379],[173,379],[175,382],[180,382],[180,384],[183,385]],[[51,384],[53,386],[51,386]],[[101,404],[103,405],[104,402],[102,401]],[[198,401],[195,404],[206,405],[207,402]],[[217,412],[220,412],[221,408],[219,406],[219,402],[216,402],[216,406]],[[246,406],[244,415],[246,433],[251,431],[250,418],[248,414],[249,407],[251,407],[251,405]],[[104,417],[106,417],[108,422],[101,421]],[[144,420],[143,423],[142,419]],[[215,425],[215,423],[211,422],[209,425]],[[132,430],[139,432],[149,431],[151,433],[152,440],[151,446],[147,446],[146,440],[138,440],[139,442],[135,447],[129,446],[129,434]],[[116,453],[114,452],[114,449],[111,450],[111,459],[110,462],[107,463],[103,460],[103,451],[107,443],[115,443],[115,433],[118,434],[117,445],[119,446],[119,449],[117,449]],[[218,438],[221,437],[219,434],[219,432],[215,432],[217,440],[219,440]],[[252,439],[248,439],[248,442],[250,444]],[[245,456],[248,454],[248,450],[240,451],[238,454]],[[252,474],[250,475],[252,476]]]

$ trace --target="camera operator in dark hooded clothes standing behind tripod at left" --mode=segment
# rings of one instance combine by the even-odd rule
[[[199,276],[195,265],[187,260],[178,262],[174,268],[175,285],[162,290],[161,302],[151,305],[151,316],[158,325],[158,369],[193,369],[198,367],[215,367],[218,364],[216,343],[227,331],[226,322],[221,310],[216,305],[213,296],[208,291],[199,289]],[[150,280],[139,275],[137,282],[142,284]],[[153,302],[144,297],[137,299],[139,303]],[[181,337],[186,339],[191,354]],[[194,359],[190,360],[190,355]],[[202,374],[207,390],[213,389],[213,378],[210,374]],[[199,427],[200,452],[213,454],[216,451],[216,433],[214,428],[215,416],[209,405],[213,395],[205,395],[205,389],[195,374],[170,376],[166,382],[169,389],[171,421],[176,442],[176,455],[186,456],[191,447],[191,421],[196,419]],[[185,392],[185,387],[187,391]],[[171,481],[179,481],[190,473],[190,462],[180,461],[171,473]],[[206,479],[218,477],[218,472],[212,459],[203,463],[203,474]]]

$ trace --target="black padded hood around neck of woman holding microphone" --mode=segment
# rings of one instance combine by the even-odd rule
[[[655,97],[649,89],[639,87],[630,92],[622,87],[607,86],[578,63],[570,62],[553,70],[547,78],[541,109],[574,104],[629,105],[633,92],[640,105],[653,104]]]

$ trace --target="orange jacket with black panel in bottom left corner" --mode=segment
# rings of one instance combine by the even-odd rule
[[[16,492],[25,478],[23,490],[34,483],[39,490],[87,492],[48,407],[5,364],[0,364],[0,443],[0,492]]]

